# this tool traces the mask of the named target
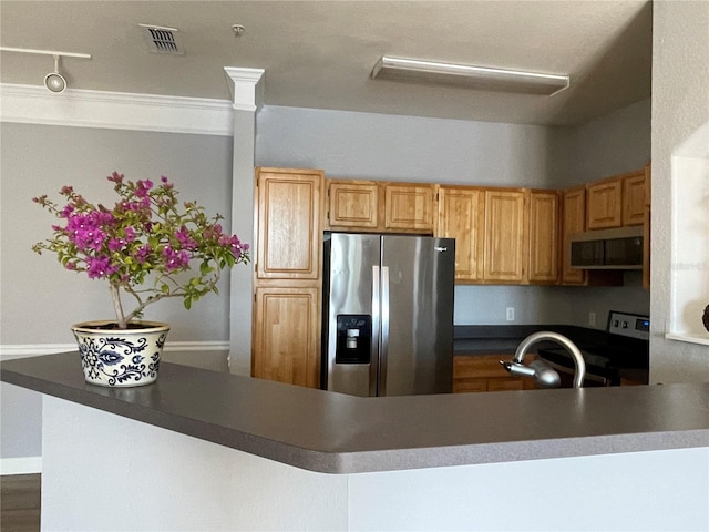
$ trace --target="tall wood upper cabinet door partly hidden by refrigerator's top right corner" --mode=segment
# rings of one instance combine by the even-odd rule
[[[439,187],[435,235],[455,238],[455,280],[477,280],[481,276],[484,225],[482,192],[466,187]]]

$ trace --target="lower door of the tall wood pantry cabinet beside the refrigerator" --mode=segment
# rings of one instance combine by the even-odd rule
[[[257,287],[251,375],[318,388],[320,385],[320,290]]]

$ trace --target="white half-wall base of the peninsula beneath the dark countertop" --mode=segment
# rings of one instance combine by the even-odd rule
[[[709,530],[709,449],[326,474],[43,397],[42,530]]]

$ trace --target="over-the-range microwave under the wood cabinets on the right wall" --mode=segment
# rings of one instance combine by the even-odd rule
[[[571,266],[580,269],[643,269],[643,226],[577,233]]]

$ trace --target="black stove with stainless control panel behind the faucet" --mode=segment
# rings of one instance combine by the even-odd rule
[[[648,316],[608,313],[606,334],[597,341],[577,344],[586,361],[584,386],[619,386],[624,378],[647,383],[650,318]],[[538,356],[562,376],[562,386],[571,387],[575,365],[562,347],[543,347]]]

